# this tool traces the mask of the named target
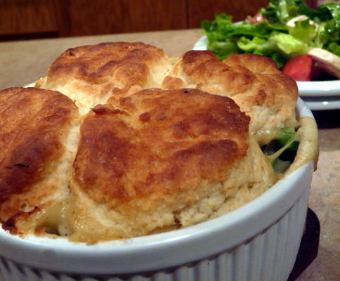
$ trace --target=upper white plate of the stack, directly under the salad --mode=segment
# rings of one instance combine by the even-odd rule
[[[207,44],[208,44],[208,39],[206,36],[203,36],[195,43],[192,49],[193,50],[207,50]],[[298,84],[300,96],[309,96],[309,97],[339,96],[340,98],[340,80],[297,81],[296,83]],[[335,105],[335,104],[336,103],[332,103],[333,106],[336,106],[336,108],[339,108],[339,105]]]

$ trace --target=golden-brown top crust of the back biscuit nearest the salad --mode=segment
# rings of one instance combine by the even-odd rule
[[[277,70],[273,60],[263,55],[235,54],[221,61],[211,51],[188,51],[183,54],[178,66],[198,88],[218,85],[223,91],[221,93],[235,96],[247,95],[254,90],[254,84],[262,83],[263,91],[270,93],[263,101],[273,102],[275,86],[285,87],[285,93],[279,91],[277,94],[296,100],[296,83]],[[176,68],[174,72],[178,72]],[[261,93],[253,93],[253,96],[261,96]]]

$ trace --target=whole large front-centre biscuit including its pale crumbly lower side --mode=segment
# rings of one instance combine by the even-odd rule
[[[261,194],[275,178],[257,143],[249,145],[248,126],[233,100],[195,89],[144,90],[94,107],[73,164],[70,238],[96,242],[190,226],[239,189],[258,185],[252,196]]]

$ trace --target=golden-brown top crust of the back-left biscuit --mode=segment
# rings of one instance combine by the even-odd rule
[[[146,79],[147,63],[162,58],[161,49],[143,43],[109,42],[70,48],[48,70],[48,81],[62,83],[81,79],[103,84],[112,76],[122,84],[136,84]]]

